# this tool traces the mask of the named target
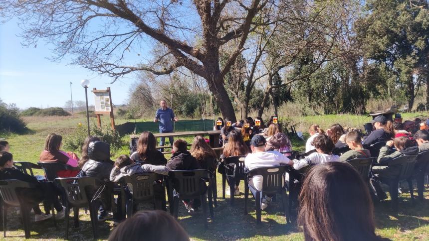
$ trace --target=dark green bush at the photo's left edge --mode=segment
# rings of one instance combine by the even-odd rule
[[[7,105],[0,100],[0,131],[22,132],[26,129],[18,111],[14,104]]]

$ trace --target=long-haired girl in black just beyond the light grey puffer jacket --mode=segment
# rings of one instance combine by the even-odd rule
[[[165,165],[167,159],[164,154],[156,148],[157,140],[150,131],[143,131],[137,142],[137,151],[131,154],[133,161],[152,165]]]

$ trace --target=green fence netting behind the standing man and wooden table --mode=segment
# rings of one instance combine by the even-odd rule
[[[174,132],[213,130],[213,126],[214,120],[179,120],[174,122]],[[158,122],[136,122],[136,134],[145,130],[151,131],[152,133],[158,133]]]

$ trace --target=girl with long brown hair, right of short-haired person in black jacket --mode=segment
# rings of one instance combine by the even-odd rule
[[[207,144],[203,136],[197,135],[194,138],[190,152],[191,155],[197,159],[198,163],[200,163],[202,169],[207,169],[212,172],[216,170],[216,152]]]

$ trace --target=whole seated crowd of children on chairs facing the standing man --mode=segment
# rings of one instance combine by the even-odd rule
[[[372,175],[389,177],[399,172],[396,167],[389,166],[394,158],[417,155],[419,152],[429,150],[427,129],[422,128],[413,136],[404,129],[403,124],[393,124],[385,117],[379,116],[373,120],[375,130],[364,139],[358,131],[345,131],[340,124],[332,125],[326,132],[319,125],[313,124],[308,131],[310,137],[305,145],[305,153],[301,155],[302,158],[289,159],[292,142],[282,131],[281,125],[273,121],[273,117],[268,121],[267,126],[259,117],[254,120],[247,118],[235,123],[231,123],[227,118],[218,120],[219,124],[216,124],[214,129],[220,130],[219,144],[223,146],[219,162],[216,152],[203,136],[194,138],[190,150],[187,149],[188,143],[185,140],[177,139],[173,143],[172,156],[167,160],[164,154],[156,149],[156,138],[149,131],[141,133],[135,152],[130,156],[121,155],[115,162],[110,159],[110,145],[100,141],[96,136],[88,136],[85,139],[79,159],[73,152],[60,150],[61,135],[51,133],[46,137],[39,161],[57,162],[72,167],[58,171],[58,177],[93,177],[109,182],[111,185],[119,183],[122,177],[134,174],[152,172],[168,175],[169,171],[195,169],[214,172],[218,163],[232,156],[242,156],[244,166],[248,170],[289,165],[292,169],[303,171],[306,167],[314,166],[307,173],[299,195],[298,222],[303,227],[306,240],[355,240],[356,237],[379,240],[374,233],[370,192],[378,200],[384,200],[387,196],[380,184],[373,179],[371,179],[372,188],[368,189],[358,172],[344,162],[371,157],[368,148],[376,143],[385,142],[377,156],[377,162],[381,165],[372,168]],[[344,153],[335,151],[347,147],[349,150]],[[393,147],[395,150],[391,152]],[[57,212],[56,218],[63,218],[65,207],[59,200],[61,191],[52,182],[37,181],[35,177],[15,169],[7,141],[0,141],[0,151],[0,180],[17,179],[36,185],[35,191],[20,194],[22,198],[33,200],[35,221],[49,219],[51,205]],[[217,171],[224,173],[223,165],[218,165]],[[240,194],[239,183],[240,180],[237,178],[234,183],[235,195]],[[252,177],[249,184],[260,191],[262,176]],[[165,202],[163,185],[160,183],[154,183],[154,185],[156,186],[154,186],[155,198]],[[94,190],[89,190],[89,193],[94,196],[99,189],[95,187]],[[125,195],[129,198],[132,190],[127,189]],[[122,216],[110,213],[114,209],[112,195],[107,192],[107,189],[96,198],[99,201],[99,221],[112,218],[117,222],[123,220]],[[267,208],[272,198],[267,195],[262,197],[261,208]],[[39,202],[43,202],[45,213],[41,212]],[[201,206],[200,199],[184,200],[183,203],[190,213]],[[136,214],[117,226],[109,240],[128,240],[139,237],[138,232],[143,230],[143,227],[145,230],[154,230],[155,227],[157,229],[162,227],[165,230],[163,232],[160,229],[158,234],[153,234],[152,240],[169,240],[172,237],[177,240],[189,240],[177,221],[163,211],[145,211]]]

